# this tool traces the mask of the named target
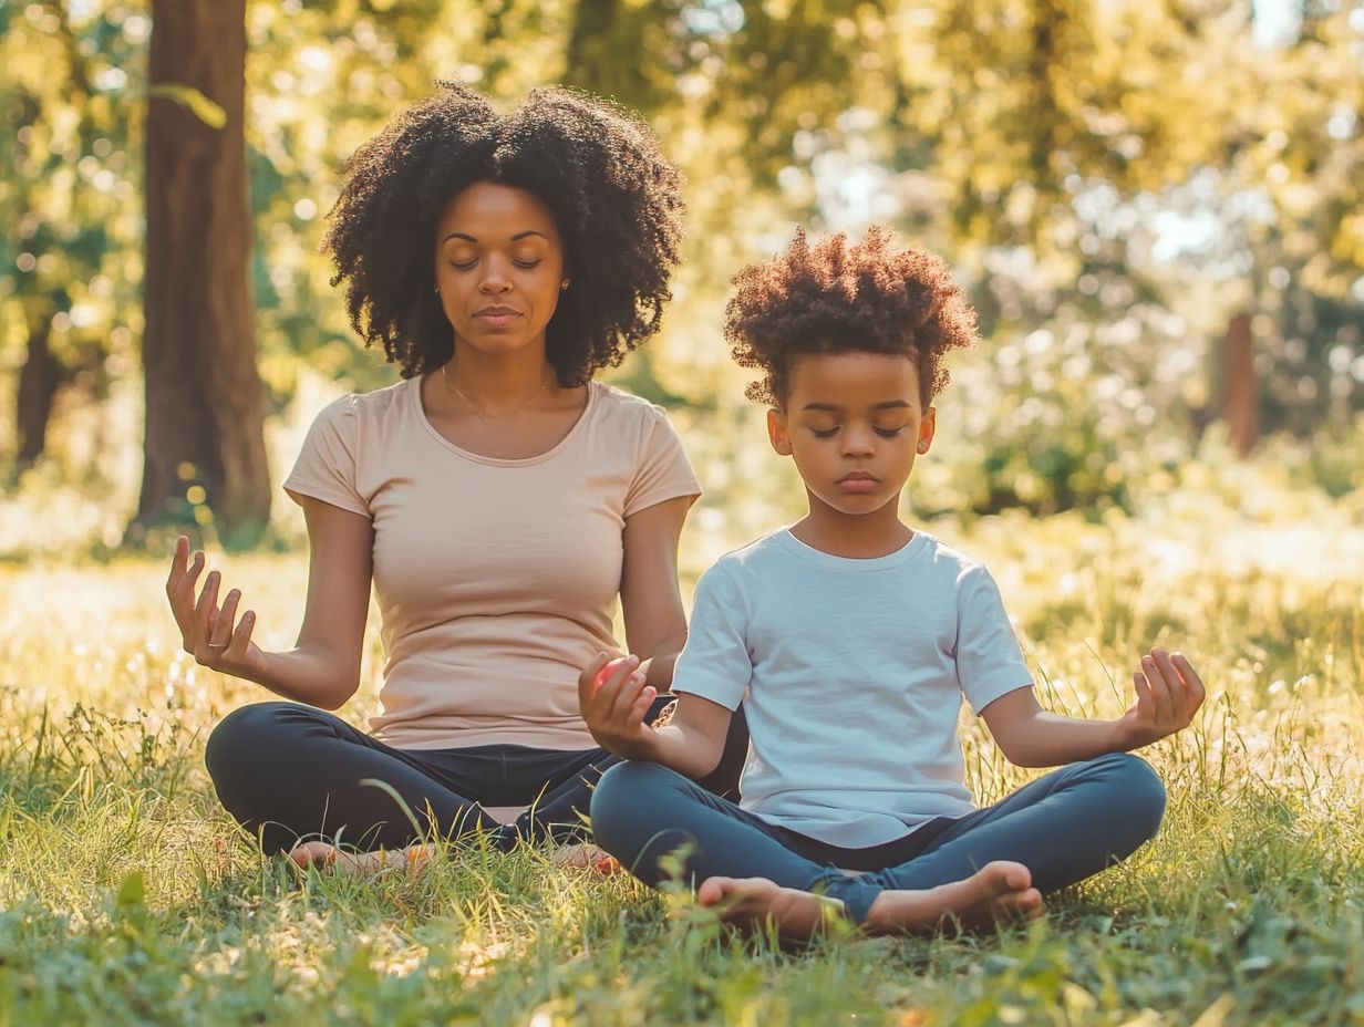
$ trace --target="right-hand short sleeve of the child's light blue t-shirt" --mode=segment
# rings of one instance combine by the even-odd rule
[[[1004,611],[1000,588],[985,567],[970,567],[962,576],[956,601],[956,676],[962,694],[979,716],[1000,696],[1028,687],[1033,675]]]

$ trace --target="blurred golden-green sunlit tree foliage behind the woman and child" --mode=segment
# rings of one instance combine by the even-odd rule
[[[157,361],[146,218],[179,202],[145,195],[151,119],[164,109],[188,145],[226,131],[188,100],[228,108],[190,71],[149,95],[158,11],[0,0],[0,466],[12,499],[100,496],[87,540],[117,540],[113,520],[135,514],[130,481],[153,473],[165,484],[145,524],[246,540],[265,507],[229,499],[202,456],[153,458],[155,432],[139,430],[139,357],[149,389]],[[756,416],[717,330],[730,277],[794,224],[873,220],[953,263],[985,336],[917,472],[921,513],[1135,509],[1221,445],[1226,430],[1207,430],[1236,404],[1254,409],[1252,431],[1300,439],[1316,484],[1361,484],[1349,457],[1364,441],[1361,0],[237,0],[237,12],[254,315],[231,338],[263,383],[262,427],[196,402],[209,423],[263,436],[277,464],[325,394],[396,379],[359,352],[316,245],[346,155],[451,78],[503,102],[551,82],[614,97],[687,173],[664,333],[618,381],[672,408],[716,509],[762,491],[761,447],[730,447]],[[177,101],[177,86],[196,93]],[[1244,381],[1226,372],[1240,323]]]

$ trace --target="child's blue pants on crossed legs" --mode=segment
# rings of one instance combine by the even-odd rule
[[[858,923],[884,889],[960,881],[993,859],[1023,863],[1042,892],[1083,881],[1154,837],[1163,813],[1161,779],[1127,753],[1063,766],[993,806],[863,850],[768,824],[657,764],[618,764],[592,794],[596,843],[645,884],[664,880],[660,857],[678,854],[692,887],[767,877],[842,900]]]

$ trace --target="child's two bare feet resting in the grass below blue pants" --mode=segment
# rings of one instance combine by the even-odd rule
[[[1031,919],[1042,912],[1042,895],[1022,863],[994,862],[964,881],[923,891],[881,892],[863,929],[873,934],[933,934],[944,929],[993,930],[1001,921]],[[702,906],[752,930],[772,921],[790,941],[809,941],[831,921],[844,917],[843,903],[762,877],[711,877],[697,889]]]

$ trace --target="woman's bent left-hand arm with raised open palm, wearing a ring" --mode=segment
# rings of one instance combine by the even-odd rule
[[[299,641],[289,652],[265,652],[254,641],[255,612],[237,619],[241,593],[218,606],[218,571],[203,571],[202,552],[190,562],[190,543],[176,541],[166,597],[184,651],[202,667],[254,681],[278,696],[337,709],[360,685],[360,652],[370,612],[374,526],[368,517],[319,499],[303,498],[308,525],[308,597]]]

